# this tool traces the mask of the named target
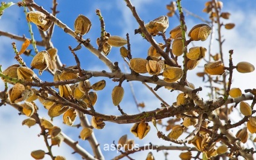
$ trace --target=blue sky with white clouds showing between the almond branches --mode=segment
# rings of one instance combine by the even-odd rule
[[[8,1],[6,1],[8,2]],[[18,2],[18,1],[13,1]],[[50,11],[51,1],[36,1],[39,5],[43,5],[43,8]],[[155,19],[156,17],[165,15],[167,10],[165,5],[170,1],[132,1],[133,5],[135,5],[136,10],[138,11],[139,16],[147,23],[150,20]],[[204,8],[204,3],[206,1],[182,1],[182,5],[187,10],[202,16],[205,19],[208,19],[208,15],[206,13],[202,13]],[[230,49],[234,49],[234,64],[239,61],[248,61],[249,63],[254,64],[255,66],[255,51],[256,51],[256,38],[254,36],[256,29],[256,14],[255,9],[255,1],[242,1],[242,0],[234,0],[234,1],[223,1],[224,7],[223,11],[229,11],[231,13],[231,18],[229,20],[223,20],[225,23],[235,23],[236,26],[232,30],[228,30],[224,32],[225,43],[223,46],[223,52],[228,57],[228,51]],[[133,57],[146,58],[147,57],[147,49],[149,48],[149,43],[146,40],[142,39],[142,37],[138,34],[134,35],[134,29],[138,28],[138,24],[136,20],[133,18],[132,13],[129,8],[126,7],[124,1],[59,1],[59,5],[57,5],[57,10],[60,11],[57,14],[57,17],[62,20],[62,22],[66,23],[71,29],[74,29],[74,20],[78,16],[78,14],[83,14],[87,16],[92,22],[91,31],[88,32],[83,38],[90,38],[92,45],[96,46],[95,40],[100,36],[100,22],[98,20],[98,16],[95,14],[95,10],[99,8],[101,10],[101,14],[104,17],[104,21],[106,23],[106,31],[110,32],[111,35],[119,35],[121,37],[126,37],[126,33],[128,32],[130,35],[130,43],[132,48]],[[26,37],[30,37],[28,33],[27,22],[24,20],[25,15],[23,13],[23,8],[19,8],[17,6],[12,6],[8,8],[4,15],[0,19],[0,30],[12,32],[17,35],[25,35]],[[170,29],[174,26],[179,25],[178,19],[174,17],[169,18],[170,26],[167,29],[167,35]],[[200,22],[199,19],[195,19],[193,16],[185,14],[185,22],[187,23],[188,30],[192,28],[197,23]],[[35,34],[36,40],[40,41],[39,33],[37,32],[37,28],[33,25],[33,31]],[[74,57],[68,49],[68,46],[72,46],[74,48],[77,46],[76,40],[65,34],[62,29],[55,27],[55,31],[53,34],[53,44],[59,51],[60,59],[63,64],[67,66],[75,65]],[[224,30],[224,29],[223,29]],[[161,38],[156,37],[156,40],[160,43],[162,42]],[[2,69],[6,69],[10,64],[16,63],[14,60],[13,49],[11,48],[11,42],[16,42],[18,48],[21,46],[21,42],[17,40],[11,40],[10,38],[0,37],[0,64],[2,65]],[[209,41],[206,42],[195,42],[196,46],[204,46],[208,48]],[[33,47],[30,46],[30,49]],[[42,47],[39,48],[39,51],[43,50]],[[213,44],[213,52],[218,52],[217,43]],[[87,49],[82,48],[76,52],[78,57],[80,58],[82,68],[85,70],[107,70],[106,66],[97,59],[94,55],[92,55]],[[34,54],[34,52],[32,52]],[[31,57],[22,56],[27,64],[30,64],[32,60]],[[119,48],[112,48],[112,51],[108,55],[108,58],[111,61],[119,61],[122,71],[124,61],[120,56]],[[227,63],[227,61],[225,62]],[[200,63],[199,66],[203,66],[203,62]],[[203,87],[202,79],[196,76],[196,72],[202,71],[202,68],[198,67],[197,69],[188,73],[188,81],[193,82],[196,87]],[[38,72],[37,70],[35,71]],[[240,87],[240,84],[243,84],[241,89],[247,88],[255,88],[255,72],[245,75],[245,77],[238,77],[240,74],[238,72],[234,72],[234,82],[232,84],[233,87]],[[53,78],[47,72],[43,72],[43,75],[40,76],[43,81],[52,81]],[[102,78],[92,78],[90,81],[92,84],[94,82],[100,81]],[[117,85],[117,83],[112,82],[110,79],[103,78],[107,81],[106,88],[102,91],[98,91],[98,101],[95,105],[96,111],[103,112],[106,114],[114,114],[120,115],[120,112],[117,108],[112,105],[111,99],[111,91],[112,88]],[[151,85],[153,87],[153,85]],[[11,85],[9,85],[11,87]],[[135,103],[132,99],[132,94],[130,92],[129,84],[123,83],[123,87],[126,89],[124,99],[121,102],[121,107],[124,109],[124,112],[128,114],[135,114],[137,111]],[[141,82],[133,82],[133,87],[135,88],[135,94],[139,102],[144,102],[146,104],[146,108],[143,111],[152,110],[155,108],[159,108],[160,101],[153,96],[152,93],[147,90],[147,88],[141,84]],[[0,82],[0,90],[4,89],[4,84]],[[165,91],[163,88],[158,90],[158,94],[167,101],[167,103],[171,104],[176,99],[176,95],[179,92],[176,91],[174,93],[170,93],[170,91]],[[205,94],[207,90],[200,93],[200,96],[206,97]],[[39,114],[42,117],[48,117],[47,112],[42,106],[39,106]],[[0,159],[32,159],[30,156],[31,150],[36,149],[45,149],[45,144],[43,143],[42,137],[37,137],[37,134],[40,133],[40,129],[38,126],[33,126],[31,128],[27,128],[27,126],[22,126],[21,122],[26,117],[24,115],[18,115],[18,111],[13,109],[11,106],[1,106],[0,107]],[[91,116],[88,116],[91,119]],[[234,118],[235,119],[235,118]],[[78,123],[78,120],[75,122]],[[71,137],[73,140],[78,140],[78,134],[82,128],[75,129],[70,128],[62,124],[62,117],[54,118],[54,124],[63,128],[63,132]],[[118,139],[124,135],[128,134],[129,139],[134,139],[137,144],[165,144],[169,145],[170,143],[159,140],[156,137],[156,129],[150,123],[151,131],[149,135],[147,135],[143,140],[139,140],[134,135],[130,133],[130,128],[132,124],[127,125],[117,125],[115,123],[106,122],[106,126],[103,130],[94,130],[95,136],[97,137],[98,142],[101,144],[101,149],[106,159],[114,158],[118,154],[115,152],[107,152],[103,150],[103,144],[112,144],[113,141],[117,142]],[[162,131],[165,131],[163,128]],[[165,132],[168,134],[168,132]],[[183,137],[185,138],[185,135]],[[79,140],[79,144],[82,147],[85,147],[86,150],[91,152],[89,147],[89,143],[87,141]],[[173,146],[175,144],[172,144]],[[72,155],[72,149],[69,148],[66,144],[62,144],[60,147],[53,147],[54,155],[63,155],[66,156],[67,159],[80,159],[80,156],[77,154]],[[140,152],[130,155],[133,159],[145,159],[148,152]],[[169,151],[168,158],[178,155],[180,152]],[[157,159],[163,159],[163,152],[153,152],[153,155]],[[45,159],[50,159],[50,157],[46,156]],[[126,159],[126,158],[124,158]]]

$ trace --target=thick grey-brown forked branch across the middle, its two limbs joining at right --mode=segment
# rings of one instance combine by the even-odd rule
[[[73,70],[75,73],[75,70]],[[78,71],[77,71],[78,72]],[[125,77],[128,81],[141,81],[141,82],[151,82],[153,84],[161,85],[161,86],[168,86],[171,88],[174,88],[174,90],[179,90],[182,91],[188,96],[190,96],[191,99],[194,99],[196,104],[200,106],[202,109],[208,109],[209,111],[213,111],[214,109],[219,108],[222,105],[226,105],[229,103],[238,103],[242,100],[252,100],[253,96],[252,94],[243,94],[241,97],[232,99],[228,98],[227,100],[224,100],[222,98],[216,99],[214,101],[206,101],[203,102],[202,98],[196,93],[193,92],[193,89],[184,85],[180,85],[177,82],[173,83],[167,83],[161,79],[159,79],[157,82],[153,81],[151,77],[149,76],[133,76],[131,74],[126,74],[126,73],[121,73],[121,72],[115,72],[115,73],[110,73],[110,72],[89,72],[89,71],[82,71],[84,74],[88,74],[94,77],[108,77],[108,78],[122,78]],[[1,74],[0,74],[1,76]],[[72,81],[72,80],[70,80]],[[43,83],[40,81],[40,83]],[[54,84],[55,85],[55,84]],[[83,109],[82,107],[78,106],[75,103],[69,102],[68,100],[64,99],[63,97],[60,97],[59,94],[53,90],[53,88],[48,88],[48,87],[43,87],[45,90],[49,91],[53,96],[56,96],[59,100],[60,103],[63,105],[68,105],[71,106],[72,108],[77,109],[78,111],[82,111],[84,114],[89,114],[89,115],[94,115],[96,117],[101,117],[105,121],[109,122],[114,122],[114,123],[137,123],[140,122],[142,118],[146,118],[147,122],[150,122],[152,120],[152,117],[155,117],[157,120],[161,118],[166,118],[166,117],[173,117],[176,114],[181,114],[184,112],[188,111],[194,111],[198,110],[200,108],[197,108],[195,106],[187,106],[186,108],[175,108],[173,106],[166,107],[166,108],[161,108],[161,109],[155,109],[153,111],[148,111],[148,112],[142,112],[139,114],[133,114],[133,115],[106,115],[106,114],[101,114],[100,112],[92,112],[87,109]]]

